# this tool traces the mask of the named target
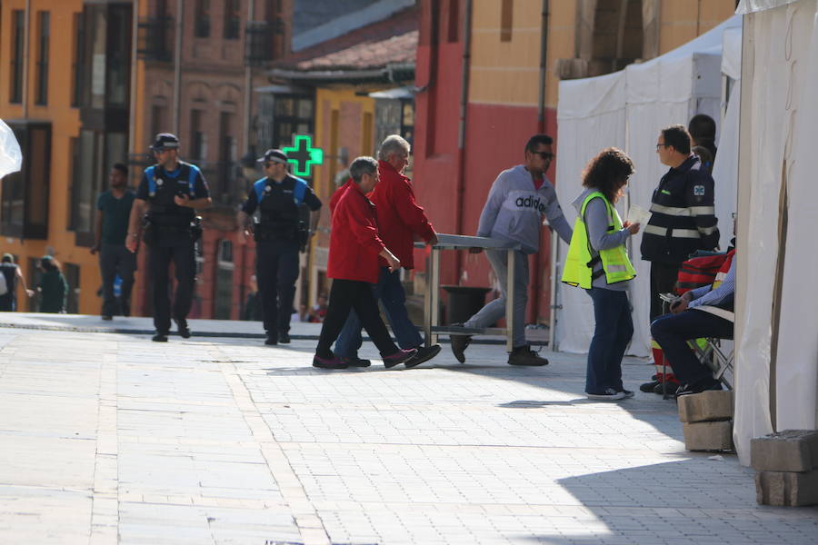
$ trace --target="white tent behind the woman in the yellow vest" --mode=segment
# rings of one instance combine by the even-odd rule
[[[653,188],[667,170],[656,157],[656,137],[664,126],[686,125],[694,114],[720,118],[723,36],[728,29],[737,28],[740,32],[741,24],[741,17],[734,16],[692,42],[651,61],[631,64],[614,74],[560,83],[556,191],[569,222],[573,222],[576,215],[570,203],[582,190],[581,173],[585,164],[608,146],[623,149],[636,165],[628,199],[622,203],[620,213],[629,203],[643,208],[650,206]],[[735,64],[733,58],[732,65]],[[716,164],[721,162],[721,155],[720,152]],[[716,213],[723,247],[732,236],[734,168],[733,164],[732,175],[724,173],[723,179],[716,179]],[[641,242],[641,234],[632,239],[637,278],[631,292],[635,332],[630,353],[647,356],[650,353],[650,265],[641,260]],[[566,251],[561,244],[554,268],[557,279],[562,275]],[[591,299],[582,290],[558,285],[555,301],[559,306],[555,315],[554,348],[587,352],[594,332]]]

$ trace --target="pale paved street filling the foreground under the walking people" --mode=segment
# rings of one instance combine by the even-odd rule
[[[818,509],[760,507],[734,456],[685,452],[673,401],[585,400],[583,356],[513,368],[473,345],[461,365],[444,345],[321,372],[312,340],[32,316],[0,317],[4,544],[818,541]],[[625,362],[626,385],[650,372]]]

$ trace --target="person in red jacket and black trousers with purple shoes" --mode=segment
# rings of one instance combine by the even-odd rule
[[[372,290],[372,284],[378,281],[379,257],[384,259],[390,271],[401,267],[400,260],[378,236],[374,204],[365,196],[378,183],[378,163],[372,157],[358,157],[349,166],[349,173],[354,185],[341,196],[333,213],[326,268],[326,275],[333,279],[333,287],[313,365],[323,369],[349,367],[330,347],[344,327],[349,312],[354,309],[381,352],[387,369],[399,363],[414,367],[422,362],[415,359],[417,351],[401,350],[392,342]]]

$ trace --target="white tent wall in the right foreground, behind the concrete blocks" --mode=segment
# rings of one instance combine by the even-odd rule
[[[743,0],[733,439],[818,427],[818,1]],[[719,154],[722,152],[720,150]]]

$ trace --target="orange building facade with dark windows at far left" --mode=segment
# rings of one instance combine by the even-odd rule
[[[0,4],[0,118],[15,130],[24,154],[23,171],[3,179],[0,250],[15,255],[28,283],[35,281],[37,260],[54,254],[71,287],[68,310],[94,312],[100,285],[96,257],[76,230],[91,221],[93,203],[90,195],[80,202],[72,193],[79,189],[71,174],[73,157],[82,137],[84,108],[85,126],[93,126],[87,116],[105,108],[92,103],[110,90],[120,93],[117,97],[123,98],[126,109],[127,87],[108,87],[117,82],[105,81],[105,66],[100,68],[105,47],[89,64],[78,63],[78,35],[84,25],[95,22],[91,15],[83,16],[83,8],[81,0]],[[118,15],[127,18],[121,21],[124,37],[129,39],[131,6],[120,8]],[[128,66],[126,58],[123,68]],[[126,137],[120,144],[126,151]],[[36,300],[27,301],[22,292],[17,297],[19,310],[36,309]]]

